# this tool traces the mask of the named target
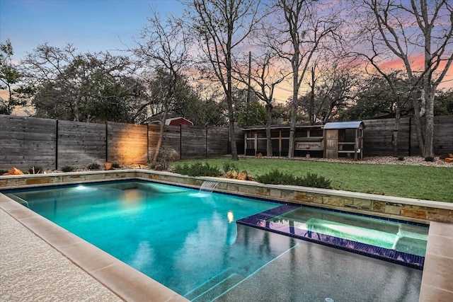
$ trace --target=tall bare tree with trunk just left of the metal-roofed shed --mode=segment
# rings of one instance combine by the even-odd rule
[[[292,102],[289,127],[288,158],[294,156],[299,89],[311,66],[311,60],[322,47],[326,38],[335,33],[338,19],[330,6],[313,0],[274,0],[275,14],[263,28],[266,45],[291,64]]]

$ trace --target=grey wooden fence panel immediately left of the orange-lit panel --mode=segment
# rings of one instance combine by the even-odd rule
[[[58,121],[58,168],[105,163],[105,124]]]

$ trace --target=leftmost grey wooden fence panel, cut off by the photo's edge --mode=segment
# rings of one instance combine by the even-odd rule
[[[55,169],[56,121],[0,115],[0,169]]]

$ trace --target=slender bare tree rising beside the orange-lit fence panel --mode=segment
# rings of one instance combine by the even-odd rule
[[[154,83],[159,83],[154,93],[161,98],[164,107],[159,139],[151,160],[151,163],[156,163],[164,138],[169,105],[176,102],[178,83],[192,62],[190,47],[193,40],[182,21],[176,18],[162,21],[154,12],[148,21],[149,24],[143,28],[137,40],[134,54],[142,61],[145,69],[151,69],[150,72],[154,73],[154,80],[157,80]]]

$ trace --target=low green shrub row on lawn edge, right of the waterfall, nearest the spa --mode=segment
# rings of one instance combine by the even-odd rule
[[[331,189],[331,180],[319,176],[316,173],[307,173],[306,176],[294,177],[280,172],[279,170],[273,170],[270,173],[259,175],[255,178],[256,181],[272,184],[272,185],[298,185],[302,187],[319,187],[323,189]]]

